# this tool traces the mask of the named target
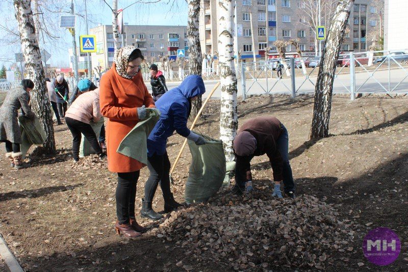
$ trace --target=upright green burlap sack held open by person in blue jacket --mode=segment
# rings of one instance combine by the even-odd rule
[[[195,133],[204,137],[207,143],[196,145],[188,140],[192,161],[184,199],[189,204],[208,201],[221,187],[226,172],[222,141]]]

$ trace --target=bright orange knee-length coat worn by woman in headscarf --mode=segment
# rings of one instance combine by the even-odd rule
[[[108,169],[111,172],[133,172],[144,165],[116,152],[120,142],[139,121],[137,108],[154,108],[141,72],[133,79],[118,75],[115,64],[104,74],[99,86],[100,112],[109,118],[106,129]]]

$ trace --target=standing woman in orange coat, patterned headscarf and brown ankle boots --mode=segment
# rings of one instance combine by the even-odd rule
[[[144,228],[135,219],[136,183],[140,169],[137,160],[116,152],[122,139],[146,118],[145,107],[155,103],[144,85],[139,65],[143,55],[135,46],[119,48],[112,68],[100,81],[100,111],[109,118],[107,124],[108,168],[117,172],[115,229],[126,238],[137,237]]]

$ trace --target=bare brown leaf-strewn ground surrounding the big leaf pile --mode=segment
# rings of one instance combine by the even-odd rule
[[[295,101],[286,96],[255,96],[239,103],[239,123],[259,115],[274,115],[289,130],[290,157],[297,194],[314,195],[333,204],[339,220],[358,227],[351,251],[331,252],[326,270],[405,271],[408,268],[408,99],[366,96],[354,102],[335,96],[330,119],[331,136],[310,142],[313,98]],[[219,137],[219,101],[211,101],[197,130]],[[113,230],[115,174],[106,162],[88,157],[71,162],[71,135],[57,126],[58,154],[31,157],[33,167],[9,168],[0,159],[0,232],[22,267],[28,271],[156,271],[184,270],[183,260],[194,271],[232,270],[228,263],[195,262],[178,244],[156,236],[150,220],[138,221],[152,229],[134,240]],[[173,162],[184,138],[174,135],[168,143]],[[182,156],[173,175],[172,190],[183,201],[191,157]],[[265,156],[252,161],[254,186],[269,183],[271,169]],[[136,200],[140,210],[148,170],[141,171]],[[265,188],[265,186],[263,186]],[[270,193],[271,187],[265,189]],[[228,195],[228,189],[220,194]],[[232,196],[231,196],[232,197]],[[160,189],[154,208],[163,209]],[[137,212],[138,213],[138,212]],[[393,229],[401,240],[401,254],[385,267],[369,263],[362,252],[365,234],[375,227]],[[290,258],[290,256],[289,256]],[[363,263],[359,266],[358,263]],[[189,267],[190,267],[189,266]],[[0,261],[0,270],[5,267]],[[255,271],[259,266],[249,268]],[[297,267],[273,267],[295,270]],[[309,269],[315,270],[315,267]],[[306,270],[301,268],[300,270]]]

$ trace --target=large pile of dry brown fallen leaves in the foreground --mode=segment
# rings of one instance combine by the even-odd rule
[[[350,225],[316,197],[296,200],[222,196],[207,204],[173,211],[157,236],[186,249],[191,262],[236,270],[278,267],[323,269],[353,238]],[[178,266],[185,266],[183,261]]]

